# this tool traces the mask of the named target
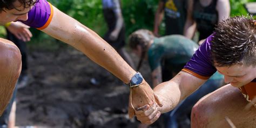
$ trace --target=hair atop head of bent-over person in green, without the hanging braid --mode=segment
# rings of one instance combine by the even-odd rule
[[[142,46],[144,48],[149,42],[154,38],[154,35],[151,31],[146,29],[139,29],[134,31],[129,36],[129,46],[132,49],[136,49],[137,45]]]

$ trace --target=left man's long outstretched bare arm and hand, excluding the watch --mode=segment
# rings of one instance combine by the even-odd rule
[[[110,71],[126,84],[130,83],[130,79],[136,73],[97,33],[70,16],[65,15],[54,6],[52,21],[42,31],[82,51],[93,62]],[[131,89],[131,92],[132,104],[135,109],[145,104],[152,105],[156,102],[153,90],[145,80],[140,86]],[[130,117],[133,114],[133,108],[130,107]]]

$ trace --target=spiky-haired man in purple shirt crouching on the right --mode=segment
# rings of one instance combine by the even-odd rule
[[[146,105],[136,111],[137,118],[142,123],[153,123],[160,112],[174,109],[218,71],[228,84],[193,106],[191,127],[230,127],[226,119],[237,127],[255,127],[256,104],[252,102],[256,96],[255,49],[255,22],[251,16],[221,21],[183,70],[153,89],[163,106],[158,110]],[[245,109],[247,104],[253,105]]]

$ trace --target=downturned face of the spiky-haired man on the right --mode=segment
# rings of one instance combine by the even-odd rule
[[[216,66],[216,69],[224,75],[225,83],[230,83],[234,87],[244,86],[256,77],[256,66],[235,64],[232,66]]]

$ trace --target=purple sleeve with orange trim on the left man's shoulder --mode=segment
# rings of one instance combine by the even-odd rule
[[[53,16],[52,5],[46,0],[38,0],[28,13],[28,20],[21,21],[32,28],[45,29]]]

